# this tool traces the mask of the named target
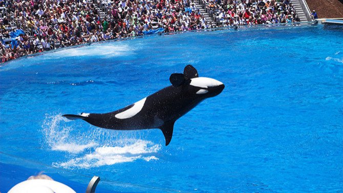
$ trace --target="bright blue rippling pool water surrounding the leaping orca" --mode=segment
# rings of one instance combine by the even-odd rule
[[[160,130],[113,131],[104,113],[170,85],[191,64],[226,87]],[[343,31],[240,29],[65,49],[0,68],[0,191],[44,170],[84,192],[339,192]]]

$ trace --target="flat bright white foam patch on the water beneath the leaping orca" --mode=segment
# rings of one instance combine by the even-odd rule
[[[53,163],[53,165],[63,168],[90,168],[133,162],[138,159],[158,160],[152,154],[156,154],[160,149],[161,145],[153,144],[151,141],[137,140],[131,145],[97,147],[93,153],[73,158],[67,162]]]

